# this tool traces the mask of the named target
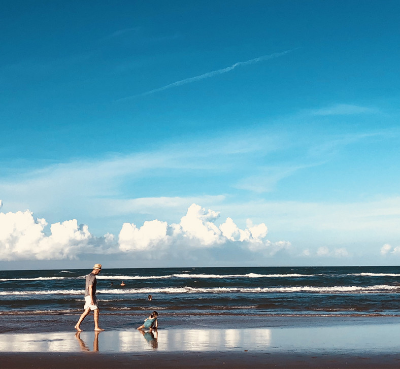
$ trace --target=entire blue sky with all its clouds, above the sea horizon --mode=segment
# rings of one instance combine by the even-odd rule
[[[398,264],[397,1],[1,8],[1,268]]]

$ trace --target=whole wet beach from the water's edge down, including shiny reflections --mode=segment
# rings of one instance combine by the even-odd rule
[[[398,368],[400,317],[0,316],[4,368]],[[182,319],[183,318],[183,319]],[[25,324],[24,324],[25,323]],[[13,329],[14,327],[14,329]]]

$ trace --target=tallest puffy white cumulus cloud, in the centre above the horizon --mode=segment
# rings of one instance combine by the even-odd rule
[[[264,251],[273,255],[291,245],[286,241],[272,243],[266,240],[268,228],[264,223],[253,225],[247,221],[247,228],[240,229],[231,218],[219,227],[215,221],[219,213],[192,204],[179,224],[168,225],[159,220],[147,221],[138,228],[135,224],[124,223],[119,233],[121,251],[151,251],[166,248],[201,249],[225,246],[239,246],[250,251]]]

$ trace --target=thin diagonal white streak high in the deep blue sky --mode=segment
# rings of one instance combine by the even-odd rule
[[[186,85],[186,84],[192,83],[192,82],[197,82],[197,81],[200,81],[200,80],[203,80],[203,79],[206,79],[206,78],[210,78],[210,77],[214,77],[214,76],[226,73],[226,72],[230,72],[230,71],[234,70],[237,66],[250,65],[250,64],[258,63],[260,61],[271,60],[271,59],[286,55],[286,54],[290,53],[291,51],[292,50],[286,50],[286,51],[283,51],[283,52],[280,52],[280,53],[273,53],[271,55],[259,56],[258,58],[254,58],[254,59],[250,59],[250,60],[246,60],[246,61],[239,61],[239,62],[237,62],[235,64],[232,64],[230,66],[227,66],[226,68],[223,68],[223,69],[218,69],[216,71],[204,73],[204,74],[199,75],[199,76],[186,78],[184,80],[177,81],[177,82],[174,82],[174,83],[170,83],[169,85],[162,86],[162,87],[159,87],[159,88],[155,88],[153,90],[150,90],[150,91],[147,91],[147,92],[143,92],[143,93],[139,93],[137,95],[123,97],[123,98],[118,99],[117,101],[128,100],[130,98],[139,97],[139,96],[147,96],[147,95],[150,95],[150,94],[155,93],[155,92],[168,90],[169,88]]]

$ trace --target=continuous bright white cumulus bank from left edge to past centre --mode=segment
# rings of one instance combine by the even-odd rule
[[[142,254],[145,258],[160,259],[167,254],[188,256],[202,249],[242,249],[245,252],[272,256],[291,247],[290,242],[271,242],[266,239],[264,223],[240,229],[231,218],[219,227],[219,213],[192,204],[180,222],[168,224],[160,220],[146,221],[141,227],[124,223],[115,240],[113,234],[95,237],[85,224],[76,219],[48,225],[43,218],[35,219],[29,210],[0,213],[0,260],[60,260],[79,259],[83,253]]]

